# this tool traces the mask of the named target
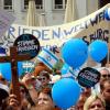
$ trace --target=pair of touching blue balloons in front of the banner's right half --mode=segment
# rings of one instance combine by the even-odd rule
[[[87,46],[81,38],[72,38],[62,47],[62,56],[74,69],[80,67],[88,58],[88,54],[100,63],[108,53],[108,45],[105,41],[96,40]]]

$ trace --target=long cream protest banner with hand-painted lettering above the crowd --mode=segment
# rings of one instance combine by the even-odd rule
[[[110,8],[110,3],[82,19],[62,25],[35,28],[12,24],[0,42],[10,46],[21,34],[33,34],[40,41],[41,46],[55,48],[52,50],[55,54],[59,53],[57,47],[61,47],[63,42],[70,37],[81,37],[87,43],[97,38],[108,42],[110,21],[105,16],[108,8]]]

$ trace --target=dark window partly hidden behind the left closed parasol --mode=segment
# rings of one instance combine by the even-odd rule
[[[24,10],[28,9],[29,0],[24,0]],[[43,0],[35,0],[36,9],[43,9]]]

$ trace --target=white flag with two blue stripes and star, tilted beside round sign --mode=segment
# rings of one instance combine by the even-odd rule
[[[53,69],[58,58],[48,50],[43,48],[37,56],[37,59],[43,62],[48,68]]]

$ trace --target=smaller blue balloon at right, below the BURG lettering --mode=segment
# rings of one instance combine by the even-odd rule
[[[108,45],[105,41],[96,40],[89,45],[89,54],[95,62],[100,63],[108,53]]]

